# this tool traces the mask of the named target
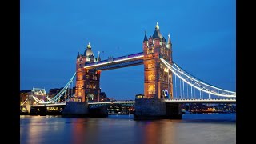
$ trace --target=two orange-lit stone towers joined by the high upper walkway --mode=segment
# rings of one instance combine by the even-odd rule
[[[75,97],[82,102],[99,101],[100,76],[104,70],[113,70],[126,66],[144,65],[144,94],[146,98],[173,98],[172,72],[167,70],[160,58],[172,63],[172,44],[162,36],[158,24],[154,34],[147,38],[145,34],[143,52],[118,58],[101,60],[96,58],[88,44],[84,54],[77,56]]]

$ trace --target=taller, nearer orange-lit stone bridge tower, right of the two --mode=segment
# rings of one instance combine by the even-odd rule
[[[173,98],[172,73],[161,62],[164,58],[172,63],[172,44],[170,34],[168,42],[160,33],[160,28],[155,26],[153,36],[147,38],[146,32],[143,40],[144,53],[144,95],[146,98]]]

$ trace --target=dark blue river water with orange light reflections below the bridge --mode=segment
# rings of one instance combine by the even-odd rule
[[[20,116],[21,144],[235,144],[236,114],[184,114],[182,120]]]

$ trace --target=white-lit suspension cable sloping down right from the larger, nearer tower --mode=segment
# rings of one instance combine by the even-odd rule
[[[221,88],[218,88],[216,86],[211,86],[207,84],[206,82],[202,82],[201,80],[198,80],[198,78],[195,78],[191,74],[187,73],[185,70],[182,70],[177,64],[173,63],[174,66],[170,65],[170,63],[166,62],[163,58],[160,58],[160,60],[177,76],[178,78],[182,79],[183,82],[186,82],[188,85],[193,86],[195,89],[200,91],[200,97],[201,97],[201,91],[212,94],[216,96],[221,97],[231,97],[236,98],[236,93],[234,91],[230,90],[223,90]]]

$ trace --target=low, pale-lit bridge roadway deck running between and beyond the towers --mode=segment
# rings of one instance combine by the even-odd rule
[[[175,102],[175,103],[236,103],[236,99],[165,99],[165,102]],[[88,102],[88,105],[102,105],[102,104],[134,104],[135,101],[113,101],[113,102]],[[65,106],[65,103],[53,103],[53,104],[42,104],[42,105],[32,105],[32,107],[40,106]]]

